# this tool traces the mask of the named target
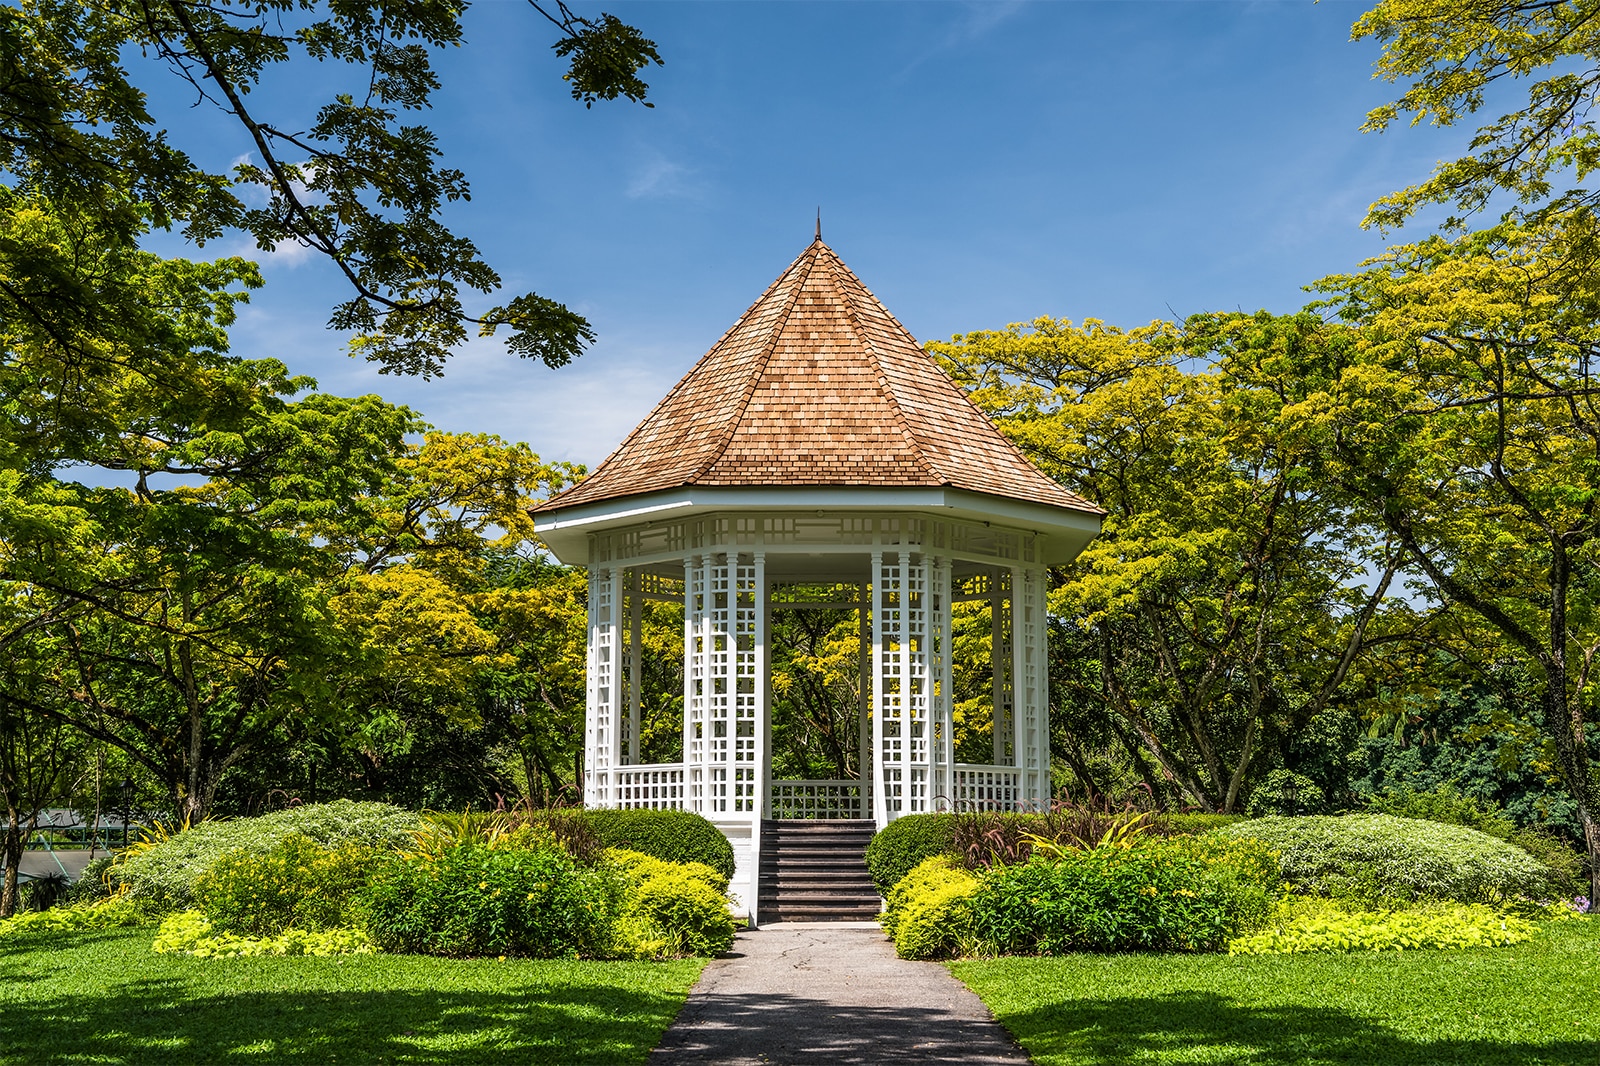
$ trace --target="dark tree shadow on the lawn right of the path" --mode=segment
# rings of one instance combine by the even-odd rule
[[[1462,1008],[1470,1005],[1464,1004]],[[1530,1002],[1530,1012],[1539,1004]],[[1054,1004],[1003,1018],[1035,1058],[1066,1063],[1248,1063],[1251,1066],[1595,1066],[1597,1040],[1518,1044],[1435,1039],[1333,1007],[1248,1007],[1214,992]]]

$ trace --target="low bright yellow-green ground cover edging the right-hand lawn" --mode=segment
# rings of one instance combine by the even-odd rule
[[[1533,922],[1482,903],[1430,903],[1403,911],[1350,911],[1328,900],[1290,898],[1261,932],[1229,943],[1230,956],[1306,951],[1501,948],[1533,936]]]

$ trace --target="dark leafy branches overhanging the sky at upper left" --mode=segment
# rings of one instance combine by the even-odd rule
[[[298,243],[350,287],[330,327],[386,371],[432,376],[467,338],[510,328],[520,355],[558,367],[594,339],[562,304],[525,293],[469,312],[462,288],[491,293],[499,275],[470,240],[440,222],[470,195],[440,160],[437,138],[408,115],[438,88],[430,51],[462,42],[464,3],[322,0],[24,0],[0,8],[0,170],[62,216],[131,242],[141,227],[181,226],[195,242],[248,232],[264,250]],[[562,2],[534,11],[560,34],[574,99],[643,102],[638,72],[653,42],[614,16],[576,16]],[[304,128],[269,114],[251,91],[282,64],[349,74]],[[126,66],[125,66],[126,64]],[[134,74],[130,74],[130,67]],[[254,146],[232,176],[195,165],[155,126],[138,75],[165,69],[197,102],[232,117]],[[646,104],[650,106],[650,104]],[[237,187],[264,192],[251,206]],[[61,307],[29,304],[42,320]]]

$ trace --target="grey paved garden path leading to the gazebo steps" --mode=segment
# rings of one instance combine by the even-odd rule
[[[651,1066],[718,1063],[1026,1064],[982,1000],[907,962],[875,922],[779,922],[714,959]]]

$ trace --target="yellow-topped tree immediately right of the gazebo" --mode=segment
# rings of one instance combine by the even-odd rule
[[[1046,317],[928,347],[1042,469],[1109,512],[1051,592],[1051,615],[1093,642],[1093,669],[1054,672],[1058,699],[1098,704],[1158,792],[1232,812],[1262,747],[1326,711],[1403,611],[1374,626],[1395,559],[1286,459],[1285,397],[1184,368],[1205,325]]]

